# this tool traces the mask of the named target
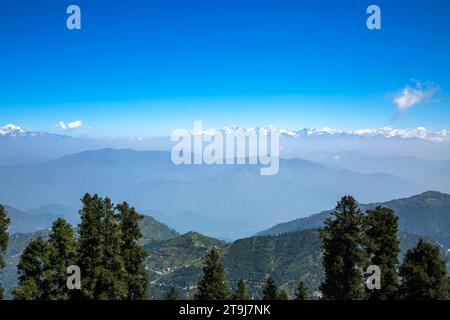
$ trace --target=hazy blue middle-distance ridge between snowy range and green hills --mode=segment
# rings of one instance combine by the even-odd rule
[[[292,219],[299,207],[309,212],[331,207],[343,194],[369,202],[422,191],[393,175],[361,174],[297,158],[281,159],[274,176],[261,176],[257,165],[177,166],[169,152],[130,149],[84,151],[0,167],[0,203],[76,207],[84,193],[98,193],[166,216],[194,212],[228,220],[234,228],[214,233],[223,239],[249,236]],[[197,223],[204,226],[201,219]]]

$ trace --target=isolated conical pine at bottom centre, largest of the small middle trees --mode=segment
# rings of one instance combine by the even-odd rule
[[[212,248],[205,259],[203,278],[198,283],[196,300],[226,300],[229,297],[225,272],[217,249]]]

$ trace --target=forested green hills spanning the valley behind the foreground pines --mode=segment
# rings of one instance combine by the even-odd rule
[[[427,192],[381,204],[394,209],[400,217],[403,230],[399,234],[401,255],[415,246],[420,238],[446,243],[448,236],[445,231],[450,230],[449,199],[450,196],[445,194]],[[361,208],[365,210],[376,205],[379,204],[361,205]],[[212,247],[218,248],[222,256],[232,289],[243,278],[251,296],[258,298],[266,278],[272,275],[278,286],[287,289],[291,296],[300,280],[314,292],[318,290],[323,277],[320,238],[314,229],[323,223],[328,214],[324,212],[298,219],[266,232],[274,234],[240,239],[233,243],[195,232],[179,235],[168,226],[145,216],[141,222],[144,235],[141,244],[148,252],[145,265],[150,278],[150,297],[162,299],[171,287],[175,287],[182,297],[192,298],[202,274],[203,259]],[[421,235],[405,232],[405,229],[415,230]],[[291,230],[294,232],[288,232]],[[15,285],[15,266],[26,244],[33,238],[45,238],[47,235],[48,231],[41,231],[11,236],[6,252],[7,267],[0,274],[0,280],[7,289]],[[450,253],[444,249],[443,254],[450,261]]]

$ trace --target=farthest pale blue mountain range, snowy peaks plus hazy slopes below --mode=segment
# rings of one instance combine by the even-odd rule
[[[189,128],[188,128],[189,129]],[[307,158],[314,152],[358,151],[377,156],[413,156],[426,160],[450,159],[450,131],[430,131],[417,128],[369,128],[338,130],[331,128],[304,128],[300,130],[266,127],[225,127],[221,133],[276,132],[280,135],[281,156]],[[212,135],[215,129],[203,131]],[[95,136],[69,136],[42,131],[27,130],[8,124],[0,127],[0,165],[36,162],[36,159],[54,159],[68,154],[93,149],[132,148],[135,150],[171,150],[175,142],[170,133],[159,137],[99,138]],[[19,164],[19,163],[16,163]]]

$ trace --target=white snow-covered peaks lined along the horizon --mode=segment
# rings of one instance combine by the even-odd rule
[[[216,129],[208,129],[202,131],[202,134],[214,135],[216,132],[217,132]],[[280,136],[287,136],[294,138],[314,137],[314,136],[360,136],[360,137],[385,137],[385,138],[402,138],[402,139],[417,138],[433,142],[450,141],[450,130],[442,129],[439,131],[431,131],[428,130],[426,127],[399,129],[387,126],[382,128],[344,131],[328,127],[322,129],[304,128],[301,130],[290,130],[290,129],[276,128],[274,126],[252,127],[252,128],[230,126],[220,129],[220,132],[224,134],[239,134],[239,133],[251,134],[256,132],[268,134],[269,132],[272,132],[279,134]],[[41,131],[28,131],[25,128],[15,124],[7,124],[3,127],[0,127],[0,136],[21,137],[21,136],[39,136],[45,134],[48,133]]]

